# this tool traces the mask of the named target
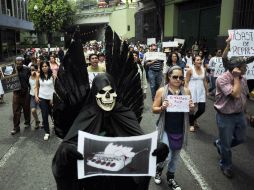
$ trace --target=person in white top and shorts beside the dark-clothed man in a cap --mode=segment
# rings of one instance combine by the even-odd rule
[[[35,89],[35,83],[36,83],[36,75],[38,71],[38,66],[32,64],[30,66],[31,69],[31,76],[29,78],[29,85],[30,85],[30,108],[32,115],[34,117],[35,121],[35,129],[38,129],[40,126],[40,120],[37,114],[37,109],[39,107],[39,104],[35,101],[35,96],[34,96],[34,89]]]

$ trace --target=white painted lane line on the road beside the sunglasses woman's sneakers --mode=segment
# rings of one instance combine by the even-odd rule
[[[194,176],[196,181],[199,183],[202,190],[211,190],[208,183],[205,181],[205,179],[202,177],[202,174],[198,171],[196,165],[191,160],[190,156],[187,154],[187,152],[182,149],[180,152],[180,157],[182,158],[185,166],[190,171],[190,173]]]

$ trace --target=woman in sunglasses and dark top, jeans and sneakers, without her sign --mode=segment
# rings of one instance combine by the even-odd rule
[[[168,112],[170,107],[167,97],[169,95],[179,96],[189,95],[190,91],[182,86],[184,80],[182,68],[179,66],[171,67],[166,75],[166,85],[159,88],[153,102],[153,113],[160,114],[157,121],[157,128],[159,131],[159,139],[169,146],[168,155],[168,172],[167,182],[171,189],[181,190],[180,186],[174,180],[176,171],[176,164],[179,159],[180,151],[183,145],[184,128],[188,126],[188,113],[182,112]],[[189,109],[194,106],[192,100],[188,102]],[[165,162],[157,165],[156,176],[154,181],[156,184],[161,183],[161,174]]]

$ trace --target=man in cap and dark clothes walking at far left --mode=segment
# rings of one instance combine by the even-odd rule
[[[16,57],[16,68],[21,84],[20,90],[13,91],[12,110],[13,110],[13,130],[12,135],[20,132],[20,117],[23,109],[25,118],[25,128],[30,127],[30,95],[29,95],[29,77],[30,69],[23,65],[24,58]]]

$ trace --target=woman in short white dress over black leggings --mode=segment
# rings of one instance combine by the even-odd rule
[[[202,66],[199,55],[194,57],[194,66],[186,73],[185,87],[191,91],[192,99],[198,110],[190,114],[190,131],[194,132],[198,128],[197,119],[205,112],[205,102],[207,94],[206,71]]]

